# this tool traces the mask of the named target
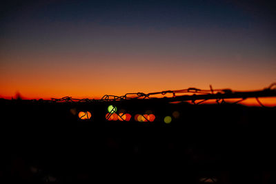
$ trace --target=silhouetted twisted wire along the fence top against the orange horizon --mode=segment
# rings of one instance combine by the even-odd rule
[[[168,94],[172,94],[171,97],[168,98]],[[179,95],[180,94],[180,95]],[[193,95],[188,95],[193,94]],[[163,96],[163,98],[155,97],[157,95]],[[276,96],[276,83],[270,84],[267,88],[263,90],[255,90],[255,91],[234,91],[229,88],[225,89],[213,89],[212,85],[210,85],[210,90],[201,90],[198,88],[188,88],[184,90],[164,90],[161,92],[132,92],[126,93],[123,96],[116,95],[104,95],[101,99],[75,99],[71,96],[64,96],[61,99],[52,98],[50,101],[52,102],[85,102],[85,103],[93,103],[93,102],[101,102],[101,101],[126,101],[133,99],[165,99],[167,101],[192,101],[193,104],[198,105],[200,103],[204,103],[210,99],[215,99],[218,104],[225,103],[224,99],[240,99],[234,103],[242,102],[248,98],[255,98],[257,102],[265,107],[260,101],[259,97],[264,96]],[[165,97],[165,98],[164,98]],[[201,100],[199,102],[195,102]]]

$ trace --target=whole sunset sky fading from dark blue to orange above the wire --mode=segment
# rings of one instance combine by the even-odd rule
[[[28,99],[276,81],[273,1],[3,1],[0,96]]]

